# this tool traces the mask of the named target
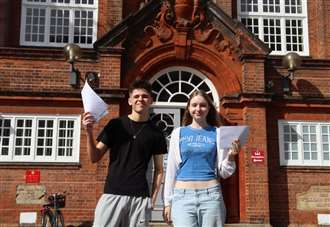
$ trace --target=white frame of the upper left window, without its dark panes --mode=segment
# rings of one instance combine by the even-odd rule
[[[93,43],[97,39],[97,20],[98,20],[98,1],[94,0],[93,5],[76,4],[75,0],[70,0],[71,3],[52,3],[51,0],[46,2],[29,2],[28,0],[22,0],[22,12],[21,12],[21,28],[20,28],[20,45],[22,46],[48,46],[48,47],[63,47],[67,43],[74,43],[74,12],[75,10],[88,10],[93,11],[93,35],[92,43],[77,43],[82,48],[93,48]],[[45,9],[45,31],[44,42],[25,41],[26,34],[26,9],[28,7],[34,7],[38,9]],[[49,42],[50,36],[50,11],[52,9],[69,10],[69,40],[66,43]]]

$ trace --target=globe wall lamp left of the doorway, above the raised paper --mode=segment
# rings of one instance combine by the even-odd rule
[[[66,62],[71,64],[69,84],[74,87],[79,87],[80,72],[75,68],[74,63],[80,58],[80,47],[77,44],[69,43],[64,46],[64,54]]]

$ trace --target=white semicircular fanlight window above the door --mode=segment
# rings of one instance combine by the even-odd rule
[[[169,67],[152,79],[154,106],[185,107],[195,90],[204,90],[218,106],[219,97],[212,82],[201,72],[189,67]]]

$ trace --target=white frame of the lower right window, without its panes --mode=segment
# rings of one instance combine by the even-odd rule
[[[297,128],[297,160],[286,160],[285,149],[284,149],[284,126],[296,126]],[[303,149],[303,126],[315,126],[316,127],[316,160],[305,160],[304,149]],[[319,167],[330,167],[330,161],[323,159],[323,146],[322,146],[322,132],[321,127],[330,127],[330,122],[318,122],[318,121],[287,121],[278,120],[278,136],[279,136],[279,152],[280,152],[280,165],[281,166],[319,166]],[[327,142],[330,145],[330,139]],[[290,150],[291,151],[291,150]],[[327,153],[329,153],[327,151]]]

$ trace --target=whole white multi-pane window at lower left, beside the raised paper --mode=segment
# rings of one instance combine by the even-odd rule
[[[2,115],[1,162],[79,162],[80,116]]]

